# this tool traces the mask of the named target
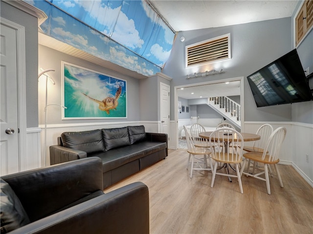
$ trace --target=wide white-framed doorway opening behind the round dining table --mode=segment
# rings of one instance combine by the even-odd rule
[[[239,131],[244,129],[244,77],[231,78],[219,81],[180,85],[175,91],[175,123],[176,123],[176,149],[185,146],[183,139],[183,125],[190,126],[194,123],[204,125],[206,129],[214,129],[221,122],[230,122],[223,113],[219,113],[210,105],[210,100],[217,97],[227,97],[239,104],[239,117],[237,127]],[[210,107],[211,106],[211,107]],[[186,112],[188,107],[188,112]],[[205,110],[209,109],[208,113]],[[182,112],[183,110],[183,112]],[[236,111],[234,109],[234,111]],[[237,110],[238,112],[238,110]],[[231,115],[233,115],[231,113]],[[225,118],[226,117],[226,118]]]

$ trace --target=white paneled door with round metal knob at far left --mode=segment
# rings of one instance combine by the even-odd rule
[[[0,174],[19,171],[17,32],[0,28]]]

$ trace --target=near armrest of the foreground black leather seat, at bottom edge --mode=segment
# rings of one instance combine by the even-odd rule
[[[136,182],[52,214],[12,234],[148,234],[149,191]]]

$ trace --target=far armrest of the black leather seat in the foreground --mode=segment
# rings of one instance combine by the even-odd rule
[[[95,191],[103,191],[102,160],[89,157],[1,176],[19,197],[31,222]]]

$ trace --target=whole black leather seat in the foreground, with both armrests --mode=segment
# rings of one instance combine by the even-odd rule
[[[102,184],[97,157],[1,176],[1,234],[148,234],[147,186]]]

